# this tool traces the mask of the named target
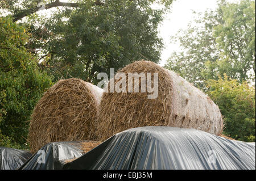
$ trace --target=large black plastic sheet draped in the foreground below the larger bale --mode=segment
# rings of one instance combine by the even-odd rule
[[[64,169],[255,169],[255,145],[196,129],[132,128]]]

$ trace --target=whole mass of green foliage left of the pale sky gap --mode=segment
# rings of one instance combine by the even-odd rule
[[[0,1],[0,146],[27,148],[28,120],[52,78],[96,83],[109,68],[141,58],[158,62],[157,29],[172,0],[74,0],[77,7],[57,7],[50,18],[35,13],[39,2],[58,1]],[[161,10],[151,8],[156,2]],[[7,14],[27,18],[18,24]]]

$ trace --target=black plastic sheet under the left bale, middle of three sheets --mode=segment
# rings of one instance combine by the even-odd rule
[[[51,142],[37,151],[24,165],[21,170],[59,170],[69,159],[79,158],[83,155],[80,149],[81,142],[67,141]]]

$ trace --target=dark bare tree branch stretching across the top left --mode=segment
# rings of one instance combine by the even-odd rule
[[[59,0],[56,0],[55,2],[48,3],[47,5],[40,6],[40,7],[38,6],[32,7],[31,9],[23,10],[21,12],[18,12],[17,14],[14,14],[13,22],[16,22],[24,18],[25,16],[31,15],[43,9],[47,10],[47,9],[51,9],[52,7],[79,7],[80,5],[81,5],[80,3],[68,3],[68,2],[60,2]],[[104,5],[104,3],[101,3],[99,0],[97,0],[96,2],[94,2],[94,5],[100,6],[100,5]]]

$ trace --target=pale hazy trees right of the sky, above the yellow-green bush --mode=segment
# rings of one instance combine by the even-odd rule
[[[165,67],[201,89],[207,79],[224,78],[224,73],[239,82],[255,81],[255,1],[221,1],[172,41],[180,42],[181,51],[172,53]]]

